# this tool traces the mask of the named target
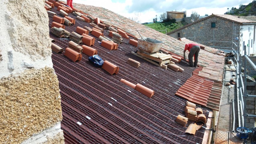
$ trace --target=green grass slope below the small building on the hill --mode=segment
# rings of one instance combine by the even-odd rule
[[[145,26],[158,31],[163,30],[160,32],[165,34],[166,29],[167,29],[167,33],[169,33],[173,30],[183,27],[184,25],[181,22],[178,22],[178,23],[166,22],[166,23],[150,23],[150,24],[145,24]]]

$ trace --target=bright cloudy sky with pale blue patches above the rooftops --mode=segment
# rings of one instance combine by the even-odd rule
[[[103,7],[127,18],[138,18],[139,23],[152,22],[153,18],[160,20],[160,15],[166,11],[186,11],[189,17],[192,11],[200,16],[205,14],[224,14],[229,8],[239,8],[248,5],[252,0],[73,0],[73,3]]]

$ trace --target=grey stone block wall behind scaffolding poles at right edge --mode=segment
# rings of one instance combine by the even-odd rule
[[[253,79],[247,79],[246,90],[248,95],[255,95],[255,81]],[[248,114],[255,115],[255,98],[246,98],[246,110]],[[255,118],[246,118],[246,127],[255,127]]]

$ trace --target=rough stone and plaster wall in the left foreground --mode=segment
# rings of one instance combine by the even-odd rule
[[[44,1],[2,0],[0,12],[0,143],[19,144],[60,123],[61,96]],[[64,143],[60,127],[46,135]]]

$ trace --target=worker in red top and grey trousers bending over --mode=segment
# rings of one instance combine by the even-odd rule
[[[185,49],[184,49],[184,60],[186,61],[186,55],[185,52],[186,50],[189,51],[189,63],[186,64],[190,67],[196,67],[197,66],[197,62],[198,62],[198,54],[200,51],[200,45],[195,44],[195,43],[189,43],[185,45]],[[194,56],[194,64],[193,64],[193,56]]]

